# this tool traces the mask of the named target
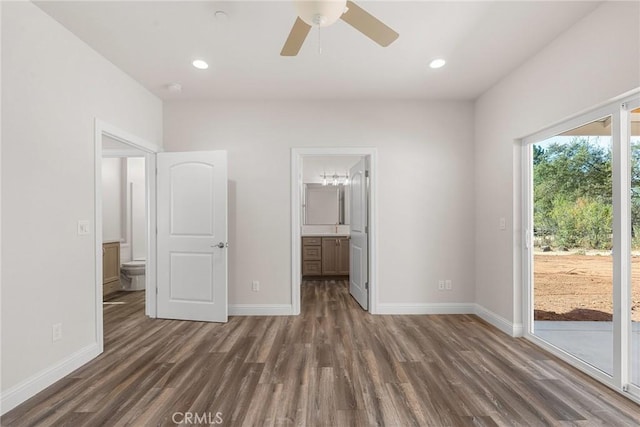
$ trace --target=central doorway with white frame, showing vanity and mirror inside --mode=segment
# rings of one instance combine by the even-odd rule
[[[375,312],[375,164],[373,148],[292,149],[293,314],[310,284],[329,282]]]

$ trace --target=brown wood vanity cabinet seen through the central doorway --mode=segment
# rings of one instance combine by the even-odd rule
[[[348,276],[349,238],[303,237],[303,276]]]

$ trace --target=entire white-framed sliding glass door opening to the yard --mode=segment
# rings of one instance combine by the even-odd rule
[[[525,337],[640,402],[640,94],[523,144]]]

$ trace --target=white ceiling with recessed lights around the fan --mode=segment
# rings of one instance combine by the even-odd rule
[[[322,54],[312,30],[297,57],[281,57],[291,0],[36,2],[162,99],[475,99],[599,4],[357,3],[399,39],[382,48],[338,21],[322,30]],[[431,70],[438,56],[448,63]],[[210,68],[195,69],[195,58]]]

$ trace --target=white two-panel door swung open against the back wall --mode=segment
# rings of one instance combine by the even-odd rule
[[[158,154],[158,317],[227,321],[227,153]]]

